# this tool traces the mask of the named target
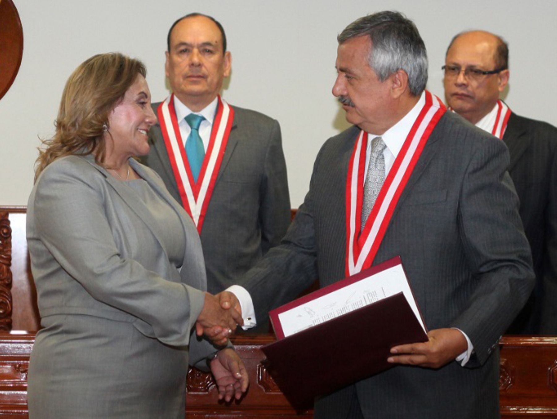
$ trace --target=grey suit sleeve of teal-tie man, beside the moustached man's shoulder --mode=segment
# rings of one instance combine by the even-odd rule
[[[282,152],[281,132],[273,121],[265,154],[265,165],[260,189],[261,250],[265,255],[277,246],[290,225],[290,196],[286,163]]]

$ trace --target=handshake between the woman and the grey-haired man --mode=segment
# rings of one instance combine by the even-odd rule
[[[225,345],[237,325],[242,326],[243,319],[236,295],[229,291],[217,295],[205,293],[203,310],[196,321],[197,335],[205,335],[215,345]]]

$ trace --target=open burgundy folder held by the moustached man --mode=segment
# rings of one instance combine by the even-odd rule
[[[309,407],[316,396],[392,368],[387,358],[393,346],[428,340],[402,293],[282,338],[282,311],[400,263],[395,257],[270,312],[278,340],[262,348],[264,363],[294,407]]]

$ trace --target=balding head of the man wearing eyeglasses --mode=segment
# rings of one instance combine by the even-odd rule
[[[509,81],[509,48],[505,41],[486,31],[459,33],[453,38],[445,65],[460,69],[457,75],[445,72],[445,99],[451,108],[476,124],[495,107]],[[470,70],[497,71],[474,75]]]

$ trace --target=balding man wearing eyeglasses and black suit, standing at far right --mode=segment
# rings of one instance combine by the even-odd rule
[[[499,99],[510,75],[509,48],[500,37],[459,33],[442,68],[451,109],[502,139],[510,152],[536,287],[507,333],[557,334],[557,129],[516,115]]]

